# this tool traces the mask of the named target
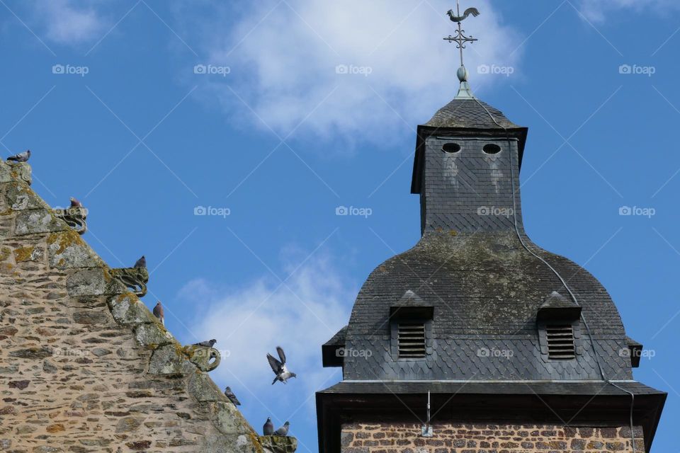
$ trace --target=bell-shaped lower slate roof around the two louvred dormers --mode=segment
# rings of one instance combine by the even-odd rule
[[[569,280],[606,377],[631,379],[621,317],[604,287],[576,263],[524,241]],[[390,306],[407,290],[434,306],[424,360],[399,360],[392,350]],[[541,352],[536,314],[549,294],[563,290],[514,231],[426,234],[361,288],[345,347],[370,353],[345,357],[344,379],[601,379],[582,321],[576,360],[548,360]]]

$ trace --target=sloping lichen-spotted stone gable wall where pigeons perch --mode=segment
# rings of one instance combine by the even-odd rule
[[[29,183],[28,164],[0,163],[0,452],[262,452],[186,348]]]

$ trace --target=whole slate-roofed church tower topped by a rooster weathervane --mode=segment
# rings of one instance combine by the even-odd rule
[[[649,452],[666,394],[601,283],[523,229],[526,127],[460,90],[419,125],[421,239],[368,276],[322,346],[323,453]]]

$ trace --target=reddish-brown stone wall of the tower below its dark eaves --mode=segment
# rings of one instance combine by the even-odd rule
[[[627,453],[630,428],[564,428],[549,425],[433,425],[421,437],[415,424],[346,424],[342,453]],[[642,429],[635,447],[644,452]]]

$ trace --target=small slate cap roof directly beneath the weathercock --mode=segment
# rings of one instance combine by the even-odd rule
[[[488,113],[485,108],[489,110]],[[506,129],[520,128],[520,126],[508,120],[500,110],[477,99],[453,99],[453,101],[440,108],[431,120],[424,125],[429,127],[502,130],[502,127],[499,127],[489,117],[489,113],[494,115],[496,121]]]

